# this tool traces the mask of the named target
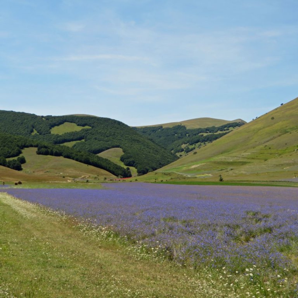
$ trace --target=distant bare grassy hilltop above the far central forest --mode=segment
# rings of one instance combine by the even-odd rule
[[[229,120],[206,117],[206,118],[195,118],[195,119],[183,120],[180,122],[169,122],[169,123],[163,123],[163,124],[144,125],[144,126],[138,126],[138,127],[141,128],[141,127],[162,126],[163,128],[166,128],[166,127],[173,127],[176,125],[184,125],[187,129],[193,129],[193,128],[204,128],[204,127],[210,127],[210,126],[221,126],[232,122],[244,122],[244,121],[242,119],[235,119],[235,120],[229,121]]]

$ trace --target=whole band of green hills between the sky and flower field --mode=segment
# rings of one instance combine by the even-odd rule
[[[0,111],[0,180],[296,186],[297,114],[298,98],[249,123],[198,118],[129,127],[95,116]]]

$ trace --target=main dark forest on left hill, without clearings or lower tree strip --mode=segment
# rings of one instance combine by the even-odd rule
[[[92,116],[36,116],[34,114],[0,111],[0,132],[29,136],[38,142],[63,144],[77,142],[77,151],[100,153],[110,148],[122,148],[121,160],[125,165],[136,167],[139,174],[156,170],[177,159],[170,150],[152,142],[124,123]],[[13,119],[17,119],[14,122]],[[76,132],[62,135],[51,134],[51,128],[65,122],[79,126],[90,126]],[[33,131],[37,134],[32,135]]]

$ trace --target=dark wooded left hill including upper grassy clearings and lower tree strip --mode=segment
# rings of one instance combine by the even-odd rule
[[[121,161],[126,167],[135,167],[138,174],[156,170],[177,159],[169,150],[138,134],[128,125],[109,118],[37,116],[0,111],[0,133],[35,141],[38,154],[75,159],[101,167],[116,176],[129,177],[130,171],[113,162],[104,161],[96,154],[111,148],[121,148]],[[60,146],[64,144],[66,146]],[[16,155],[5,157],[13,156]],[[108,166],[102,167],[102,163],[108,163]]]

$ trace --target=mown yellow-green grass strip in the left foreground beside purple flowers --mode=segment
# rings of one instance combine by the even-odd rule
[[[0,193],[0,297],[294,297],[249,275],[176,266],[104,229]],[[247,270],[253,270],[247,269]],[[254,269],[255,270],[255,269]],[[275,290],[278,290],[275,291]]]

